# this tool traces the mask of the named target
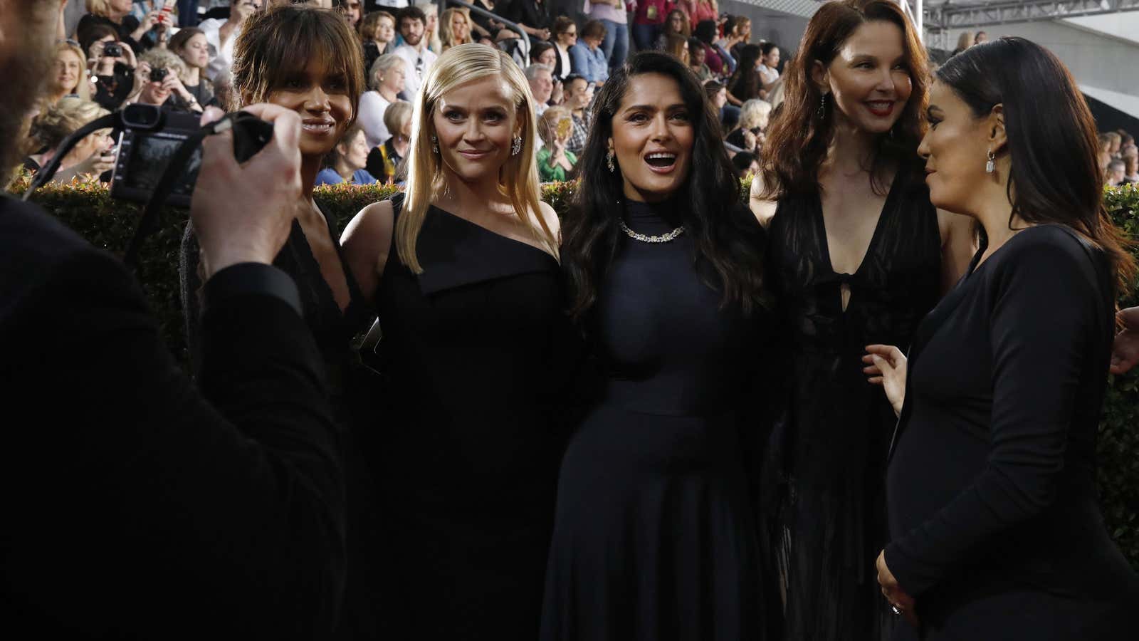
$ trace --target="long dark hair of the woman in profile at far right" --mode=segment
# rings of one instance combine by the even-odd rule
[[[1117,286],[1129,291],[1136,265],[1104,206],[1096,121],[1064,63],[1030,40],[1006,36],[969,47],[936,75],[976,117],[1002,106],[1013,216],[1075,229],[1107,254]]]

